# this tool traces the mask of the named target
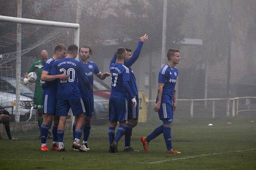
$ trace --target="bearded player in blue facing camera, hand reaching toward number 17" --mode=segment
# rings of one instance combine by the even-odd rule
[[[84,45],[81,46],[78,50],[78,55],[80,56],[80,61],[82,67],[84,68],[85,75],[88,78],[90,84],[93,87],[93,75],[95,74],[97,77],[100,78],[100,80],[104,80],[106,77],[110,76],[109,73],[101,73],[98,66],[92,62],[89,61],[90,57],[92,56],[92,49],[90,46]],[[90,135],[91,131],[91,122],[92,122],[92,116],[93,116],[93,111],[94,111],[94,101],[93,101],[93,91],[92,89],[87,89],[84,88],[84,83],[83,81],[78,80],[78,85],[79,89],[81,92],[82,100],[84,102],[85,106],[85,122],[84,122],[84,138],[83,138],[83,143],[82,143],[82,148],[84,150],[90,150],[87,141]],[[73,138],[75,139],[75,129],[76,129],[76,118],[73,124]],[[75,148],[74,148],[75,149]]]

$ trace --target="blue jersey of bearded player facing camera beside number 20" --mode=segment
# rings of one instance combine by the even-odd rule
[[[78,61],[80,61],[80,60],[78,60]],[[85,70],[84,74],[90,81],[90,84],[93,85],[93,74],[98,75],[101,73],[98,66],[92,61],[87,61],[86,64],[83,63],[82,61],[80,61],[80,62],[82,64],[82,66],[84,67],[84,70]],[[79,89],[80,89],[82,98],[93,98],[92,89],[89,90],[87,88],[84,88],[84,83],[82,81],[80,81],[80,79],[78,79],[78,84],[79,84]]]

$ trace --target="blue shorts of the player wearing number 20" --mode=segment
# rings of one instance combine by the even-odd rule
[[[57,116],[67,116],[69,109],[72,109],[73,115],[85,113],[84,102],[82,98],[72,100],[57,100]]]

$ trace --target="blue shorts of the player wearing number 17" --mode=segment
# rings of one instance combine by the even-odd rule
[[[108,120],[110,122],[123,122],[127,120],[127,99],[109,98]]]

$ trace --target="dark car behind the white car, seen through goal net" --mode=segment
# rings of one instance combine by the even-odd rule
[[[23,84],[23,78],[20,78],[20,95],[34,98],[34,92],[29,86]],[[0,89],[2,92],[16,94],[16,78],[9,76],[0,76]]]

